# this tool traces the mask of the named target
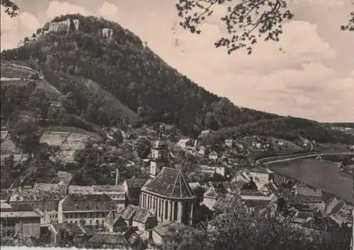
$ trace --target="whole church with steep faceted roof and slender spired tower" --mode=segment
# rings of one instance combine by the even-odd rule
[[[168,159],[169,149],[160,134],[152,144],[150,178],[141,189],[139,205],[154,212],[159,223],[191,225],[197,197],[180,170],[166,167]]]

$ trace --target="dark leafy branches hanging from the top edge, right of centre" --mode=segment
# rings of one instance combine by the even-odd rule
[[[200,34],[199,25],[212,16],[217,5],[226,5],[232,0],[178,0],[176,8],[182,21],[180,25],[191,33]],[[264,41],[279,41],[282,23],[294,17],[288,8],[289,0],[240,0],[221,18],[227,26],[229,37],[215,42],[216,47],[227,47],[231,54],[234,50],[246,49],[251,54],[259,38]],[[353,1],[353,0],[352,0]],[[353,1],[354,5],[354,1]],[[348,23],[341,30],[354,30],[354,12],[350,13]]]

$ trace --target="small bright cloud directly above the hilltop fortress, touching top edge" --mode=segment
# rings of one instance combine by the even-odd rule
[[[50,1],[50,5],[47,8],[47,16],[52,19],[56,16],[65,14],[80,13],[84,16],[91,16],[93,13],[84,7],[69,4],[67,2]]]

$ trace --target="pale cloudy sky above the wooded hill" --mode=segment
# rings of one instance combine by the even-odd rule
[[[295,18],[283,25],[280,42],[259,42],[252,55],[227,55],[226,48],[215,47],[226,31],[219,20],[224,6],[204,21],[200,35],[181,27],[173,33],[180,20],[177,0],[17,0],[17,18],[8,18],[1,6],[1,50],[16,47],[55,16],[102,16],[132,30],[171,67],[236,106],[354,123],[354,32],[340,30],[354,11],[351,0],[289,1]]]

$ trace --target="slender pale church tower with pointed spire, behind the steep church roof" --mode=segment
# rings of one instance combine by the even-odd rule
[[[159,139],[152,144],[152,159],[150,161],[150,178],[154,178],[169,160],[169,148],[167,143],[162,140],[160,127]]]

